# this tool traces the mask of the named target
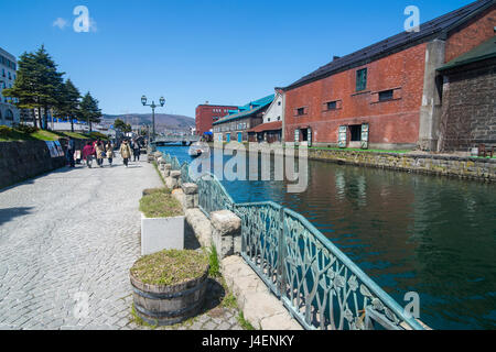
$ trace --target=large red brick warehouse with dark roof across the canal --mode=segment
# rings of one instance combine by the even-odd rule
[[[284,140],[322,146],[435,150],[448,62],[494,36],[479,0],[332,63],[285,91]]]

